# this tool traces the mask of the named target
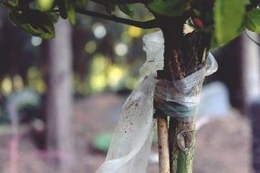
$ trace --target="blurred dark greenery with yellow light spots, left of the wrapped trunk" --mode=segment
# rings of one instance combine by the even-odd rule
[[[139,7],[135,18],[151,19]],[[89,5],[89,8],[105,13],[102,6]],[[77,25],[71,27],[74,96],[129,94],[139,81],[139,69],[145,60],[141,38],[153,31],[83,15],[78,15]],[[0,33],[0,119],[6,119],[5,103],[13,93],[29,88],[44,99],[49,42],[29,36],[11,24],[5,10],[0,11]]]

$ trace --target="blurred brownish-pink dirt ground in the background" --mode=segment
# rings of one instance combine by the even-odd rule
[[[100,132],[112,131],[125,97],[112,94],[88,97],[75,102],[74,130],[77,144],[77,173],[93,173],[105,153],[93,149],[93,139]],[[11,173],[9,162],[9,127],[0,127],[0,173]],[[245,117],[231,111],[198,131],[194,173],[251,173],[251,131]],[[26,133],[22,130],[21,134]],[[52,159],[52,164],[49,158]],[[36,150],[28,137],[19,145],[18,173],[57,173],[55,156]],[[148,173],[158,172],[156,144],[153,144]]]

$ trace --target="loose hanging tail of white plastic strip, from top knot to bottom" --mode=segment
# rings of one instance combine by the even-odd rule
[[[142,80],[122,107],[107,158],[96,173],[146,172],[153,136],[153,98],[157,83],[155,78],[156,72],[163,69],[162,32],[144,36],[143,42],[147,61],[140,68]],[[212,66],[207,66],[206,70],[211,71],[211,68]],[[205,71],[204,68],[203,70]]]

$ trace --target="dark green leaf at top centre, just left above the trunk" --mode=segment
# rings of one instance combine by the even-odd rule
[[[190,0],[154,0],[148,8],[159,15],[175,16],[182,15],[191,8],[191,5]]]

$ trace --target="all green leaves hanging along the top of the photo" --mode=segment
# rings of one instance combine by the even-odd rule
[[[116,0],[92,1],[103,5],[109,15],[116,7],[130,17],[135,14],[134,4],[122,4],[120,1],[117,4]],[[27,33],[50,39],[55,36],[53,24],[57,22],[58,16],[76,24],[77,8],[85,9],[88,0],[14,0],[5,1],[2,5],[10,9],[11,20]],[[244,28],[260,33],[260,10],[252,9],[256,7],[255,0],[151,0],[144,6],[156,15],[180,16],[185,13],[199,18],[205,27],[200,29],[213,33],[213,47],[233,40]],[[205,13],[208,8],[209,12]]]

